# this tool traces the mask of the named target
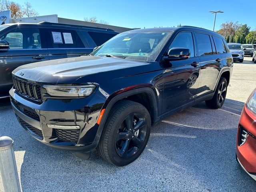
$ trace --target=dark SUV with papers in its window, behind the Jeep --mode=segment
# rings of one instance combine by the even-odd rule
[[[50,22],[1,25],[0,98],[8,96],[12,71],[18,66],[90,54],[116,34],[110,29]]]

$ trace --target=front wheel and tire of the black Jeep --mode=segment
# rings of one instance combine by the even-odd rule
[[[143,152],[150,136],[151,118],[139,103],[123,100],[110,111],[97,151],[108,162],[125,166]]]

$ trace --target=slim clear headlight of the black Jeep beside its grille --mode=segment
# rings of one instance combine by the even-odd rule
[[[50,96],[55,97],[86,97],[92,94],[96,85],[85,86],[52,86],[44,85],[43,88]]]

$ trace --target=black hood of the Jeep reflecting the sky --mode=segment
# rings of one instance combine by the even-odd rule
[[[122,70],[147,63],[122,58],[81,56],[26,64],[16,68],[12,74],[34,82],[70,84],[82,76]]]

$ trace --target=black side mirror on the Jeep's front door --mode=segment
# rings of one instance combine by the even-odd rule
[[[190,50],[182,47],[174,47],[168,51],[168,56],[165,60],[182,60],[190,57]]]

